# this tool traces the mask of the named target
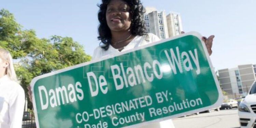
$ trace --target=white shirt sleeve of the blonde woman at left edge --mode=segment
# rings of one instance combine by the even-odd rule
[[[17,93],[11,96],[10,99],[11,99],[9,104],[10,128],[21,128],[24,105],[25,105],[25,93],[23,88],[21,86],[17,88]]]

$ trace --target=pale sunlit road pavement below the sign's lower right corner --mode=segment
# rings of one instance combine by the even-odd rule
[[[173,119],[175,128],[240,128],[237,108]]]

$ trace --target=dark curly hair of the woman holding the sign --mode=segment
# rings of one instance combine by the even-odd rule
[[[100,25],[98,27],[98,40],[103,43],[100,45],[101,48],[108,50],[111,43],[111,31],[106,22],[106,9],[107,5],[111,0],[102,0],[102,3],[99,6],[100,10],[98,12],[98,20]],[[131,16],[131,34],[133,35],[143,35],[146,33],[144,13],[145,9],[140,0],[123,0],[128,3],[130,7],[130,16]],[[100,43],[100,44],[101,44]]]

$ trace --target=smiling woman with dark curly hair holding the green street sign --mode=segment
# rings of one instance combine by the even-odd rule
[[[160,40],[156,35],[147,33],[145,9],[140,0],[102,0],[98,6],[98,39],[101,43],[94,51],[93,60]],[[202,38],[210,55],[213,38],[214,35]],[[174,125],[171,120],[166,120],[141,128],[174,128]]]

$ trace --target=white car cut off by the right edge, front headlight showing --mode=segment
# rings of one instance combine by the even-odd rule
[[[249,94],[239,104],[238,116],[241,128],[256,128],[256,81]]]

